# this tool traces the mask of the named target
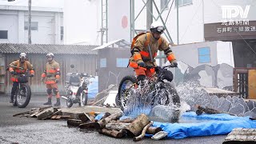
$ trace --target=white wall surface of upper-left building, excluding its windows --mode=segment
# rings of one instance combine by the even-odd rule
[[[62,44],[60,40],[60,26],[62,13],[32,11],[31,22],[38,22],[38,30],[31,30],[33,44]],[[8,40],[0,40],[1,43],[27,43],[28,30],[24,30],[24,22],[28,22],[27,11],[24,10],[0,10],[0,30],[8,30]]]

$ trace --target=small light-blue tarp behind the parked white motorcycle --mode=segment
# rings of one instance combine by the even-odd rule
[[[98,76],[90,78],[90,85],[88,86],[88,98],[95,98],[98,94]]]

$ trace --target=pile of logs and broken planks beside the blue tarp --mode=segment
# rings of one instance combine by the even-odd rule
[[[61,109],[47,106],[42,108],[33,108],[29,111],[14,114],[13,116],[37,118],[38,120],[46,119],[65,119],[67,126],[79,127],[80,129],[97,130],[100,134],[105,134],[114,138],[133,138],[134,142],[144,138],[146,134],[153,135],[151,138],[158,140],[165,138],[168,133],[162,131],[160,127],[153,127],[153,122],[150,122],[146,114],[140,114],[137,118],[122,117],[122,111],[112,114],[106,112],[103,117],[97,120],[95,117],[98,113],[79,113],[76,116],[63,115]]]

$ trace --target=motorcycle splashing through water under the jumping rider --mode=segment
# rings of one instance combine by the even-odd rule
[[[138,105],[144,105],[146,103],[151,106],[171,105],[174,107],[171,121],[177,122],[180,114],[180,98],[177,90],[169,83],[173,79],[166,77],[166,74],[171,73],[170,71],[168,72],[166,68],[174,66],[146,67],[148,69],[154,68],[156,71],[152,78],[146,78],[146,86],[138,88],[137,78],[134,75],[127,75],[122,78],[118,86],[116,104],[124,112],[127,112],[129,105],[136,105],[137,99]],[[169,82],[164,82],[164,80],[168,80]],[[145,100],[142,100],[144,98]]]

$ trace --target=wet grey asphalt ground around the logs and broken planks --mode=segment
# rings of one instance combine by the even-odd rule
[[[34,107],[42,107],[42,103],[46,102],[45,95],[32,96],[30,104],[26,108],[20,109],[13,107],[9,103],[9,96],[0,94],[0,143],[1,144],[22,144],[22,143],[92,143],[92,144],[130,144],[132,138],[110,138],[102,134],[98,134],[94,130],[79,130],[78,128],[69,128],[66,121],[62,120],[37,120],[36,118],[19,118],[13,117],[18,114],[30,110]],[[55,98],[53,98],[55,102]],[[66,106],[62,100],[62,106]],[[184,139],[166,139],[154,141],[150,138],[144,138],[136,143],[189,143],[189,144],[213,144],[222,143],[226,135],[217,135],[209,137],[184,138]]]

